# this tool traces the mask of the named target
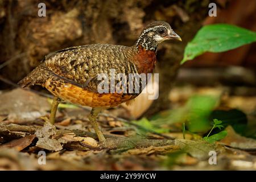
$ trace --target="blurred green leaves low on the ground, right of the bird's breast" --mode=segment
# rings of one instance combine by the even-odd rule
[[[192,133],[207,132],[211,126],[210,113],[218,105],[220,96],[194,95],[189,98],[185,106],[178,109],[166,110],[151,118],[151,123],[156,126],[174,123],[186,123],[186,130]]]

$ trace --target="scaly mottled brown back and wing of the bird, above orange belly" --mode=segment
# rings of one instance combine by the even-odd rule
[[[97,92],[99,73],[110,77],[110,69],[115,69],[116,73],[137,72],[137,67],[130,61],[132,56],[129,47],[92,44],[51,53],[46,56],[43,67],[71,84]]]

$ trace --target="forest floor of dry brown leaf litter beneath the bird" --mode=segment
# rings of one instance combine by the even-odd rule
[[[250,92],[251,88],[175,86],[172,108],[149,120],[131,121],[132,111],[123,106],[105,110],[98,122],[106,142],[100,144],[86,117],[88,107],[61,104],[53,126],[46,118],[49,98],[26,89],[2,91],[0,169],[255,170],[256,96]],[[193,98],[195,94],[199,97]],[[213,107],[207,104],[210,100],[200,97],[206,95],[218,96],[214,110],[224,114],[208,112]],[[221,130],[227,133],[211,143],[203,139],[209,133],[210,127],[204,126],[209,115],[222,120]]]

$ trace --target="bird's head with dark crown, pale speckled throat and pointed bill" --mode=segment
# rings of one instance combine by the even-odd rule
[[[156,51],[159,43],[170,39],[181,41],[180,36],[172,30],[170,24],[163,21],[156,21],[144,27],[136,42],[136,46],[138,47],[140,45],[144,49]]]

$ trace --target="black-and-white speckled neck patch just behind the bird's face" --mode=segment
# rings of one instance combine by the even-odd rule
[[[139,47],[142,47],[143,49],[147,51],[154,51],[158,49],[158,43],[150,36],[147,36],[146,34],[142,34],[139,36],[139,39],[135,43],[135,47],[139,50]]]

